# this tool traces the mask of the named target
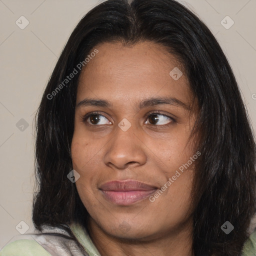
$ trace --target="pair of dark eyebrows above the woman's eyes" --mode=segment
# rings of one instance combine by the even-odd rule
[[[155,105],[161,105],[161,104],[167,104],[167,105],[175,105],[182,107],[186,110],[189,110],[190,107],[187,106],[184,102],[181,100],[174,98],[174,97],[151,97],[144,100],[140,100],[137,104],[137,107],[139,109],[145,108],[148,106],[155,106]],[[111,107],[112,104],[104,99],[92,99],[92,98],[85,98],[81,101],[79,101],[76,104],[76,107],[82,107],[82,106],[100,106],[100,107]]]

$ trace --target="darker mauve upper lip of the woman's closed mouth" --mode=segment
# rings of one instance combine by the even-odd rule
[[[138,180],[126,179],[126,180],[112,180],[102,184],[99,187],[101,190],[106,191],[136,191],[136,190],[152,190],[156,189],[156,186],[143,183]]]

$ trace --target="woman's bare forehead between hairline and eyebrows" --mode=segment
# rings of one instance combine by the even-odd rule
[[[101,43],[94,48],[98,53],[79,76],[77,100],[90,96],[125,101],[168,95],[188,100],[191,93],[183,67],[163,46],[146,41],[132,46]],[[178,80],[169,74],[173,68],[183,73]]]

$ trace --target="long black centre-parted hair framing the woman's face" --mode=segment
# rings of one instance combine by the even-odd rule
[[[174,0],[107,0],[91,9],[71,33],[36,113],[35,227],[59,226],[70,235],[71,222],[86,227],[88,212],[67,178],[72,169],[77,64],[86,68],[84,59],[99,43],[134,45],[139,41],[163,45],[175,55],[198,102],[193,133],[199,133],[201,156],[195,163],[192,191],[194,253],[239,255],[256,210],[252,128],[216,39],[195,14]],[[74,68],[77,74],[64,84]],[[234,226],[229,234],[221,230],[225,221]]]

